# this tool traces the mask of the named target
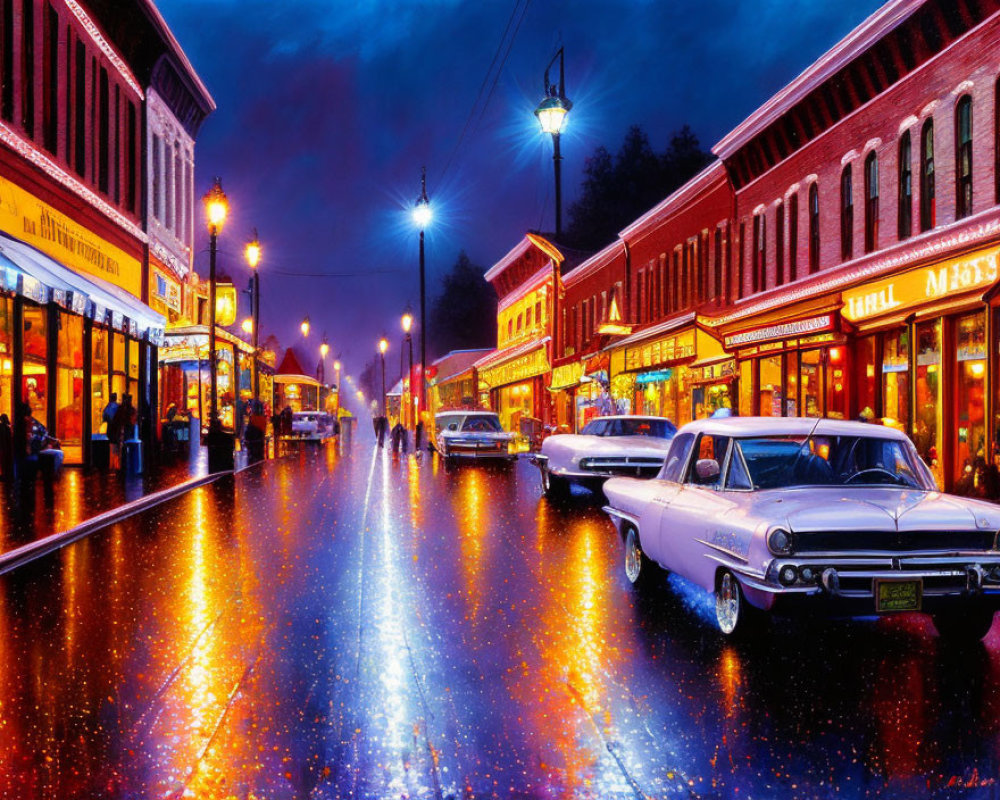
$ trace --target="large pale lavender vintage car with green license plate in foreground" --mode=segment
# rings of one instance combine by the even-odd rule
[[[943,494],[899,431],[830,419],[692,422],[655,480],[612,478],[625,574],[715,595],[724,634],[764,612],[921,611],[978,640],[1000,607],[1000,508]]]

